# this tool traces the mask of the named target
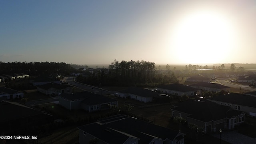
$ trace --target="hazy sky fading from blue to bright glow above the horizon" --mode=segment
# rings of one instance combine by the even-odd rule
[[[256,0],[0,0],[1,62],[256,63]]]

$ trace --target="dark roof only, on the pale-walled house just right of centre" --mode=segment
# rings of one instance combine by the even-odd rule
[[[163,88],[163,89],[167,89],[167,90],[175,90],[175,91],[179,91],[179,92],[199,91],[199,89],[197,89],[197,88],[192,88],[192,87],[184,85],[184,84],[168,84],[168,85],[158,86],[158,88]]]

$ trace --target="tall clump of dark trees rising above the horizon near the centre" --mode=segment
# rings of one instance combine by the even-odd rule
[[[114,60],[108,66],[108,72],[99,70],[90,76],[78,76],[78,81],[104,86],[155,86],[177,82],[174,73],[169,70],[156,70],[154,62],[144,60],[121,62]]]

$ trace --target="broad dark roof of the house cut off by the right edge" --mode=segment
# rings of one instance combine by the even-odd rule
[[[210,97],[209,99],[256,108],[256,97],[250,96],[247,94],[231,93],[231,94],[225,94],[220,96],[213,96],[213,97]]]

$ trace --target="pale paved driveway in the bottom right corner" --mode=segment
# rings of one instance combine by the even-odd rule
[[[212,136],[220,138],[220,132],[216,132],[212,134]],[[221,139],[230,142],[231,144],[256,144],[255,138],[231,130],[222,131]]]

